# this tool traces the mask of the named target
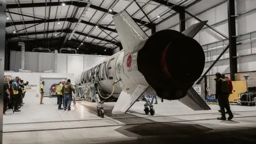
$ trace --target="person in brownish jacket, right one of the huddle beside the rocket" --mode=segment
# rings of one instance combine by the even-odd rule
[[[70,83],[70,79],[63,85],[62,93],[64,94],[64,110],[67,110],[67,101],[68,101],[68,110],[70,110],[72,92],[75,93],[75,88],[73,84]]]

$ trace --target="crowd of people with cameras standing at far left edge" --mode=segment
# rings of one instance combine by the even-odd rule
[[[25,104],[23,103],[23,98],[25,97],[27,85],[28,82],[24,83],[24,81],[18,76],[13,80],[8,77],[4,77],[3,114],[5,114],[7,109],[13,109],[13,107],[15,112],[21,111],[20,108]]]

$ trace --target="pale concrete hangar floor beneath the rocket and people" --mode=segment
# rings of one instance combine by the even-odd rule
[[[127,114],[112,115],[114,102],[105,103],[105,118],[96,103],[77,101],[70,111],[58,110],[57,98],[25,97],[21,112],[4,116],[3,143],[195,143],[256,142],[255,107],[231,106],[234,121],[218,121],[212,110],[194,111],[179,101],[159,101],[155,116],[145,115],[143,102]]]

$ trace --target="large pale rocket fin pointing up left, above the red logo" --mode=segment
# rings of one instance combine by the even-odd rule
[[[124,50],[134,49],[135,45],[148,38],[126,11],[114,15],[113,21]]]

